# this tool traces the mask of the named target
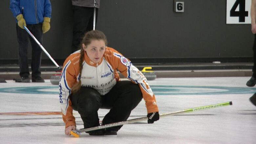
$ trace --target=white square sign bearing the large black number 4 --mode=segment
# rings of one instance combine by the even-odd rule
[[[251,0],[227,0],[226,24],[250,24]]]

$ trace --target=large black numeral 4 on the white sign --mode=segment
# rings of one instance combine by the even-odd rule
[[[239,5],[239,11],[235,11]],[[238,16],[239,22],[245,22],[245,17],[248,16],[248,11],[245,11],[245,0],[236,0],[232,9],[230,10],[230,16]]]

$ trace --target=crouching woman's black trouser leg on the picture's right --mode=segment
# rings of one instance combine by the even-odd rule
[[[103,118],[102,124],[125,121],[131,111],[139,104],[142,93],[139,85],[131,81],[119,81],[109,93],[102,96],[102,107],[110,109]],[[119,130],[121,126],[114,127]]]

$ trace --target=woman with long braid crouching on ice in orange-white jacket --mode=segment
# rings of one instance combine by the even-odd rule
[[[102,125],[126,121],[143,98],[148,123],[159,120],[155,95],[145,76],[113,48],[106,47],[101,31],[85,34],[81,50],[72,53],[63,64],[59,83],[60,104],[65,134],[75,130],[73,110],[78,111],[84,128],[99,126],[98,109],[110,109]],[[117,70],[129,80],[120,81]],[[90,135],[117,135],[122,126],[88,132]]]

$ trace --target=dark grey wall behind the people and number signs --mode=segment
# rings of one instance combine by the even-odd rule
[[[96,29],[108,46],[128,58],[239,58],[252,55],[250,24],[226,24],[226,0],[183,0],[184,12],[173,0],[101,0]],[[51,0],[51,29],[43,46],[54,59],[71,52],[70,0]],[[0,1],[0,60],[18,59],[15,18],[10,1]],[[31,48],[29,48],[31,57]],[[42,59],[49,59],[43,54]],[[61,64],[60,64],[61,65]]]

